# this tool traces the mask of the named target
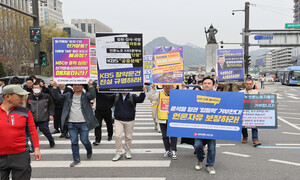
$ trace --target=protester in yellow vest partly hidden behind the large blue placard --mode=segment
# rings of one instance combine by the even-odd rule
[[[184,83],[183,83],[184,84]],[[165,147],[165,154],[163,157],[171,157],[172,159],[178,159],[177,152],[177,137],[167,136],[167,122],[168,122],[168,108],[169,108],[169,96],[170,89],[175,89],[173,85],[163,85],[163,91],[156,93],[155,85],[151,84],[152,89],[149,92],[149,99],[151,101],[157,101],[157,121],[160,125],[162,140]]]

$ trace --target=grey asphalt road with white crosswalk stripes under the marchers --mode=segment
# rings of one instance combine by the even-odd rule
[[[277,94],[278,129],[260,129],[262,145],[258,148],[252,147],[251,140],[247,144],[217,141],[215,175],[209,175],[205,169],[194,170],[196,157],[187,145],[178,143],[178,160],[162,157],[161,134],[154,130],[150,104],[145,101],[137,107],[131,160],[111,161],[114,140],[106,140],[105,127],[101,145],[93,147],[91,160],[87,160],[80,145],[82,164],[75,168],[69,167],[72,162],[69,140],[55,136],[56,146],[50,149],[40,134],[43,159],[32,160],[32,179],[300,179],[300,86],[275,83],[259,91]],[[93,132],[90,133],[93,142]]]

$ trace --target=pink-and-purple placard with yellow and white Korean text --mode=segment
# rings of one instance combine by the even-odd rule
[[[53,38],[53,79],[85,84],[90,79],[90,39]]]

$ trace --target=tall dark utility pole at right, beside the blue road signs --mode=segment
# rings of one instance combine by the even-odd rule
[[[244,28],[244,66],[245,66],[245,74],[248,74],[248,68],[250,65],[250,56],[249,56],[249,6],[250,3],[245,3],[245,28]]]

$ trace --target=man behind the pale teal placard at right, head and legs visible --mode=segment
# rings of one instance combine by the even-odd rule
[[[240,92],[243,92],[244,94],[259,94],[257,90],[253,89],[253,80],[248,78],[245,81],[245,89],[241,90]],[[242,143],[247,143],[248,141],[248,131],[247,128],[242,128],[242,134],[243,134],[243,140]],[[258,130],[257,128],[252,128],[252,142],[253,146],[259,146],[261,145],[261,142],[258,141]]]

